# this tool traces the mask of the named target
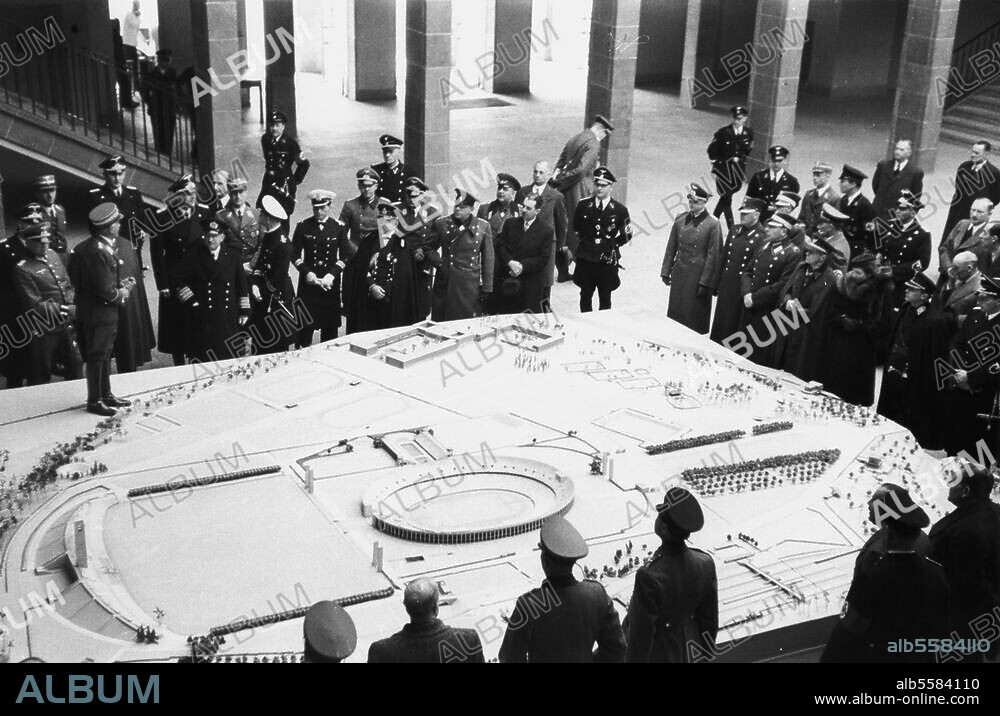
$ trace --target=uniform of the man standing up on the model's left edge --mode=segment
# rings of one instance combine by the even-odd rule
[[[111,396],[111,352],[121,305],[120,267],[115,246],[95,236],[80,244],[70,260],[80,344],[86,362],[88,403]]]

